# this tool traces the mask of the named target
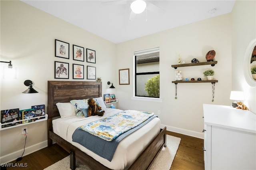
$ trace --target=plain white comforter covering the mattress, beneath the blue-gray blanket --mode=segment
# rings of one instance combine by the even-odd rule
[[[58,134],[60,137],[64,138],[77,148],[80,148],[86,154],[92,156],[95,160],[103,164],[104,166],[113,170],[124,170],[128,169],[129,166],[136,160],[136,158],[141,154],[141,152],[148,146],[148,144],[156,137],[160,131],[160,119],[155,118],[142,128],[136,130],[126,138],[124,138],[116,148],[116,152],[113,156],[111,162],[94,154],[92,151],[86,149],[82,145],[72,142],[72,134],[81,125],[90,123],[102,119],[104,117],[109,117],[122,110],[106,108],[103,117],[93,116],[93,117],[69,117],[69,118],[59,118],[52,121],[54,133]]]

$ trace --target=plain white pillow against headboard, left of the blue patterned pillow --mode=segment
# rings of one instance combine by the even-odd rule
[[[71,103],[56,103],[56,106],[61,118],[76,116],[75,109]]]

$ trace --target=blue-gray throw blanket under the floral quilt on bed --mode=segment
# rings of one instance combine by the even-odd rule
[[[82,146],[91,150],[95,154],[98,154],[102,158],[105,158],[111,162],[119,142],[123,138],[125,138],[126,136],[128,136],[129,134],[131,134],[132,132],[137,130],[138,128],[146,125],[148,122],[150,122],[155,117],[157,117],[157,116],[154,115],[154,116],[150,117],[145,122],[141,123],[140,125],[138,125],[135,128],[132,128],[131,130],[128,130],[127,132],[121,134],[120,136],[113,139],[112,141],[106,141],[106,140],[99,138],[97,136],[94,136],[78,127],[72,135],[72,141],[81,144]]]

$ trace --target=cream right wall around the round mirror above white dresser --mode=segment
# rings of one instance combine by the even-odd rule
[[[244,54],[255,38],[256,1],[236,1],[232,10],[232,90],[244,91],[244,103],[253,113],[256,113],[256,87],[248,85],[243,74]]]

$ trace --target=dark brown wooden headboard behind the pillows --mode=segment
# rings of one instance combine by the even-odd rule
[[[74,99],[102,96],[102,82],[98,81],[48,81],[48,119],[60,116],[56,103]]]

